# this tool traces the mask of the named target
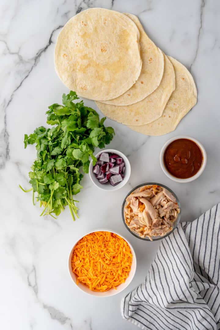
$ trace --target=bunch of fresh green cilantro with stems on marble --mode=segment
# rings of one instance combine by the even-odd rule
[[[24,148],[29,144],[36,144],[37,159],[29,172],[30,184],[33,190],[33,204],[35,193],[40,206],[44,210],[41,215],[59,215],[68,205],[75,220],[78,208],[75,206],[73,195],[82,189],[80,181],[83,172],[88,173],[90,157],[93,165],[97,162],[93,155],[94,148],[104,148],[114,136],[112,127],[105,127],[106,117],[99,121],[95,110],[85,107],[83,101],[74,103],[79,99],[76,92],[63,94],[63,105],[52,104],[47,114],[47,124],[35,129],[33,134],[24,135]],[[34,204],[35,205],[35,204]],[[54,216],[53,216],[54,217]]]

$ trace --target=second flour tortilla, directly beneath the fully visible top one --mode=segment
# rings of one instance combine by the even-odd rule
[[[137,103],[151,94],[159,86],[164,72],[162,51],[148,38],[137,16],[125,15],[135,22],[140,32],[142,68],[138,80],[129,90],[114,100],[103,102],[119,106]]]

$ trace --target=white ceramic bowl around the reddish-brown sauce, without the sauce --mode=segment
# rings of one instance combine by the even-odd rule
[[[201,152],[202,152],[202,155],[203,155],[203,162],[202,162],[202,165],[201,165],[201,168],[199,169],[199,171],[192,177],[190,178],[187,178],[187,179],[179,179],[179,178],[176,178],[174,177],[166,168],[165,164],[164,164],[164,152],[165,150],[167,149],[167,147],[169,146],[169,144],[175,140],[178,140],[178,139],[188,139],[188,140],[192,140],[193,142],[195,142],[197,144],[197,146],[200,148]],[[207,162],[207,156],[206,156],[206,151],[205,151],[205,148],[203,147],[203,145],[196,139],[190,137],[190,136],[184,136],[184,135],[180,135],[180,136],[175,136],[173,138],[171,138],[170,140],[168,140],[163,148],[161,149],[161,152],[160,152],[160,165],[161,165],[161,168],[163,170],[163,172],[166,174],[166,176],[168,178],[170,178],[171,180],[173,181],[176,181],[176,182],[181,182],[181,183],[186,183],[186,182],[191,182],[193,180],[196,180],[197,178],[199,178],[199,176],[201,176],[201,174],[203,173],[204,169],[205,169],[205,165],[206,165],[206,162]]]

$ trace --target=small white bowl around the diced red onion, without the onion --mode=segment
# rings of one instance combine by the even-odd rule
[[[115,153],[116,155],[119,155],[120,157],[122,157],[124,159],[125,162],[125,173],[124,173],[124,179],[123,181],[121,181],[120,183],[118,183],[115,186],[112,186],[109,182],[108,183],[100,183],[98,179],[96,179],[95,174],[93,173],[93,164],[92,164],[92,160],[90,162],[89,165],[89,176],[91,181],[100,189],[102,190],[106,190],[106,191],[114,191],[114,190],[118,190],[121,187],[123,187],[129,180],[130,175],[131,175],[131,165],[130,162],[128,160],[128,158],[121,152],[115,149],[105,149],[105,150],[101,150],[99,151],[95,156],[96,158],[103,152],[112,152]]]

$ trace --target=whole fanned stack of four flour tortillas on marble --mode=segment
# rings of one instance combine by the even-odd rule
[[[72,17],[57,39],[55,68],[105,116],[146,135],[173,131],[197,102],[189,71],[132,14],[91,8]]]

